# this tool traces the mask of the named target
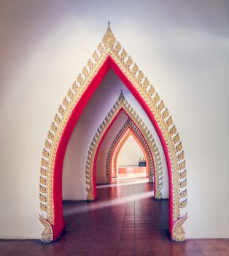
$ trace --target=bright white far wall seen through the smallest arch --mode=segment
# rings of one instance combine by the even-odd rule
[[[128,165],[139,165],[139,158],[144,158],[144,153],[141,150],[139,144],[134,140],[133,137],[128,138],[128,140],[123,145],[118,157],[119,166]]]

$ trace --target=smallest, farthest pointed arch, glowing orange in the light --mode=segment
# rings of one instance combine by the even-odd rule
[[[123,134],[123,137],[121,138],[120,140],[120,143],[118,143],[117,145],[117,148],[115,149],[115,152],[112,156],[112,161],[111,161],[111,174],[112,174],[112,178],[117,178],[118,176],[118,165],[117,165],[117,162],[118,162],[118,159],[120,157],[120,153],[123,149],[123,146],[125,145],[125,143],[128,141],[129,138],[131,138],[131,136],[133,137],[133,139],[136,141],[136,143],[139,145],[139,147],[141,148],[141,151],[143,152],[144,154],[144,159],[146,159],[146,175],[147,173],[149,173],[149,165],[150,165],[150,155],[148,154],[148,152],[146,151],[146,148],[144,148],[141,140],[139,140],[139,138],[133,133],[133,131],[128,128],[127,131]],[[149,181],[153,182],[153,167],[152,167],[152,172],[150,173],[150,175],[152,175],[151,177],[149,177],[149,174],[148,174],[148,177],[149,177]]]

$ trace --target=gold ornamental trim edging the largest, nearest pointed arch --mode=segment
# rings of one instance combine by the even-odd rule
[[[164,102],[160,99],[158,93],[155,92],[149,80],[144,73],[139,70],[137,64],[133,62],[131,56],[125,49],[122,48],[120,42],[117,41],[110,27],[108,27],[102,42],[94,51],[91,59],[78,75],[77,80],[72,84],[66,97],[58,108],[53,123],[47,133],[47,139],[44,143],[42,151],[42,161],[40,168],[39,189],[40,189],[40,208],[47,214],[47,222],[54,225],[54,206],[53,206],[53,170],[55,167],[55,156],[58,150],[58,144],[61,140],[61,135],[66,127],[69,117],[71,116],[74,107],[79,102],[80,97],[90,85],[90,82],[98,73],[98,70],[104,64],[107,57],[112,58],[120,70],[125,74],[125,77],[131,81],[132,85],[147,103],[155,120],[160,127],[163,138],[166,140],[168,155],[171,162],[171,200],[172,200],[172,226],[176,225],[176,221],[180,216],[180,209],[187,205],[187,190],[186,190],[186,163],[185,154],[183,151],[182,142],[179,133],[176,130],[174,121],[171,118],[168,109]],[[45,214],[46,212],[46,214]],[[171,230],[171,237],[174,238],[176,232]],[[180,240],[185,239],[185,234]]]

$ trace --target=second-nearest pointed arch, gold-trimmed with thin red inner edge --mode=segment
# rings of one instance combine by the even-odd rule
[[[152,152],[152,157],[154,159],[155,165],[155,196],[157,196],[157,198],[160,199],[162,197],[160,191],[163,188],[163,170],[162,162],[160,159],[160,152],[158,150],[154,138],[152,138],[150,129],[148,129],[146,124],[144,124],[144,121],[142,121],[142,119],[139,117],[136,111],[131,107],[130,103],[127,101],[127,99],[125,99],[123,93],[121,93],[120,97],[117,99],[112,109],[109,111],[109,113],[107,113],[106,117],[104,118],[104,121],[102,121],[100,127],[97,129],[97,132],[88,150],[88,157],[85,170],[88,200],[93,201],[96,199],[93,198],[93,165],[98,145],[101,142],[101,139],[103,138],[106,129],[109,127],[110,124],[112,124],[112,121],[114,120],[115,116],[117,116],[117,113],[119,113],[122,109],[125,110],[128,116],[130,116],[131,119],[135,122],[136,126],[138,127],[139,131],[144,136],[144,138],[147,138],[147,140],[149,141],[150,151]]]

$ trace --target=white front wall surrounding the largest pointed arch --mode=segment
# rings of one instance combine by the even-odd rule
[[[40,238],[47,129],[107,20],[155,83],[182,138],[187,238],[229,237],[228,1],[3,0],[0,238]]]

